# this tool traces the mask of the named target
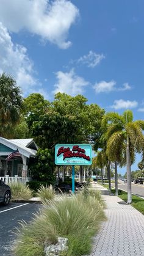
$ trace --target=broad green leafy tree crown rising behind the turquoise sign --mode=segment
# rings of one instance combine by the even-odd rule
[[[35,95],[31,96],[35,98]],[[82,95],[71,97],[66,93],[57,93],[51,104],[46,103],[44,108],[42,104],[42,111],[35,111],[35,108],[32,109],[33,104],[30,104],[26,122],[40,148],[54,150],[58,143],[93,142],[99,133],[104,109],[96,104],[86,103],[87,99]]]

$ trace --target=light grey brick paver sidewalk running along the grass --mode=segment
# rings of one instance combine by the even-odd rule
[[[102,186],[93,186],[103,190],[107,221],[94,238],[90,256],[144,256],[144,216]]]

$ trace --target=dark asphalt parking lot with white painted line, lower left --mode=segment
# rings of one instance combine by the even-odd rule
[[[4,207],[0,205],[0,255],[10,256],[13,240],[15,239],[15,227],[20,227],[18,221],[31,221],[41,207],[38,203],[10,203]]]

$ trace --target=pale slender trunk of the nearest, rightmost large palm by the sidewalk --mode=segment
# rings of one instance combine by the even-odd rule
[[[126,142],[126,172],[127,172],[127,182],[128,182],[128,203],[132,202],[132,188],[131,188],[131,156],[129,149],[129,137],[127,136]]]

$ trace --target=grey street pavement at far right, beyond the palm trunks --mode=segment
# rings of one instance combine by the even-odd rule
[[[118,184],[118,188],[128,191],[127,183]],[[144,198],[144,185],[135,185],[132,183],[132,193]]]

